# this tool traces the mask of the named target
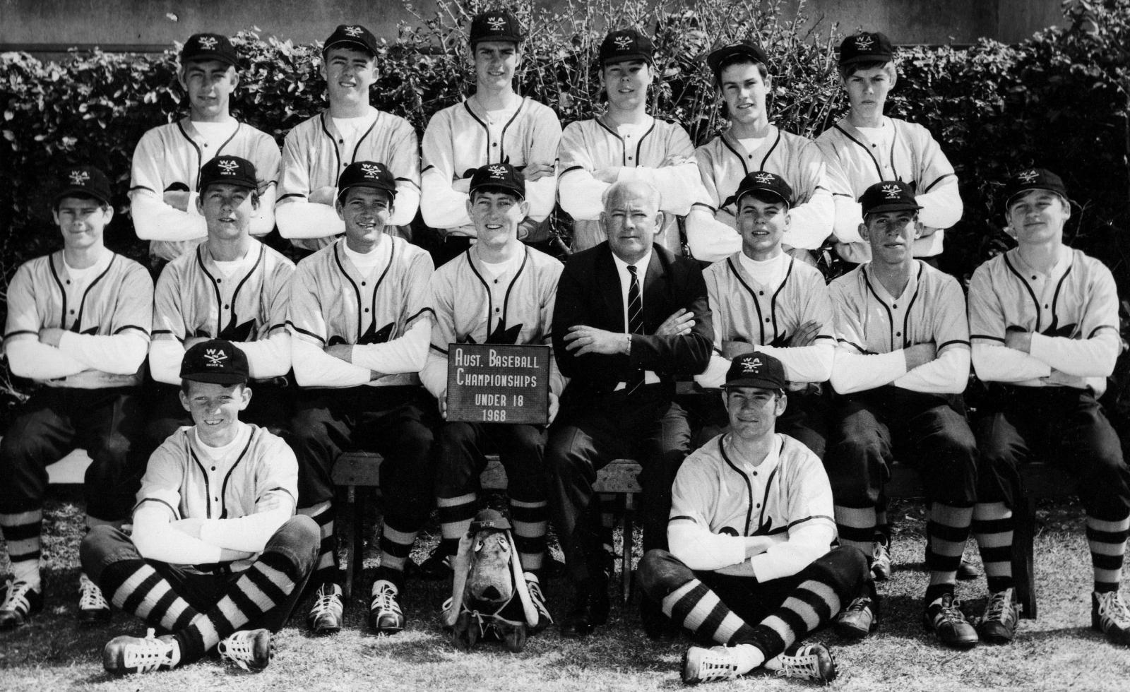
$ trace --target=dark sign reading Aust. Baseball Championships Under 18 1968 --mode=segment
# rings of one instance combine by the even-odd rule
[[[551,357],[548,346],[450,344],[447,419],[545,425]]]

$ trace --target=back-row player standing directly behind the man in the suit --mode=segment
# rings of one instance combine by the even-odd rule
[[[658,242],[676,254],[683,254],[678,216],[705,199],[687,132],[647,114],[647,87],[655,80],[653,53],[651,40],[634,28],[609,32],[599,52],[608,110],[600,118],[571,123],[562,135],[558,197],[573,217],[574,251],[607,240],[600,215],[614,182],[641,180],[659,189],[666,223]]]

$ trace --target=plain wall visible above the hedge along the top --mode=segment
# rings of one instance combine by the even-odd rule
[[[565,0],[539,3],[565,7]],[[414,5],[425,16],[436,7],[435,0]],[[843,32],[883,29],[896,43],[971,43],[980,36],[1015,43],[1060,21],[1059,6],[1059,0],[808,0],[807,11],[838,23]],[[159,51],[195,32],[252,27],[262,36],[306,43],[353,21],[392,38],[401,20],[414,21],[402,0],[0,0],[0,51],[55,53],[76,45]]]

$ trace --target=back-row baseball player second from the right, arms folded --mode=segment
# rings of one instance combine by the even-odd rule
[[[765,97],[773,80],[765,51],[753,42],[734,43],[712,51],[706,63],[730,127],[695,149],[712,214],[720,224],[687,227],[692,254],[712,262],[742,249],[734,192],[754,171],[780,175],[793,191],[796,206],[789,208],[784,244],[818,249],[832,235],[835,217],[824,156],[808,138],[770,124]]]

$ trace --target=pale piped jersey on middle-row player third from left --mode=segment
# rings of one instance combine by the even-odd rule
[[[432,257],[403,239],[386,237],[391,243],[388,263],[368,277],[347,259],[345,239],[298,262],[287,318],[295,339],[320,349],[336,344],[388,344],[420,320],[431,325]],[[419,384],[419,377],[402,373],[373,384]]]

